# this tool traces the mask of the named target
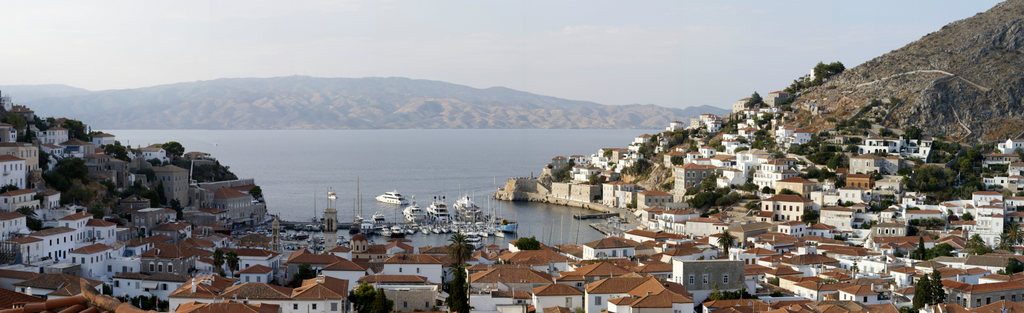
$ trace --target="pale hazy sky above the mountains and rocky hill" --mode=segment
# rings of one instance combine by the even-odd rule
[[[408,77],[728,107],[998,1],[5,1],[0,85]]]

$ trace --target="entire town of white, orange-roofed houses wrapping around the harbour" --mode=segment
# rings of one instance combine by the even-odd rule
[[[1024,140],[967,146],[871,123],[870,107],[898,99],[815,133],[788,122],[821,107],[755,93],[730,115],[555,156],[496,194],[632,222],[594,241],[355,234],[324,252],[283,249],[255,182],[213,155],[125,146],[2,99],[0,306],[17,312],[458,311],[462,298],[469,312],[934,313],[1024,301]]]

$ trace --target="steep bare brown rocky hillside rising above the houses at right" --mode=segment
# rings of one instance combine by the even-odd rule
[[[825,129],[828,117],[850,117],[871,99],[886,105],[882,124],[921,127],[927,135],[970,141],[1020,137],[1024,132],[1024,0],[946,25],[902,48],[805,90],[797,103],[813,102],[826,114],[804,113],[802,124]],[[839,119],[842,120],[842,119]]]

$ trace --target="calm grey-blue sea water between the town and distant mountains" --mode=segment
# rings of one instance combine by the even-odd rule
[[[572,220],[582,210],[490,200],[510,177],[540,175],[554,155],[590,154],[623,146],[644,130],[111,130],[122,144],[176,140],[186,151],[212,153],[242,178],[255,178],[267,210],[290,221],[323,214],[327,192],[338,194],[339,219],[351,221],[356,177],[364,217],[381,212],[399,220],[401,209],[374,197],[398,190],[426,209],[433,196],[451,205],[468,194],[488,211],[519,221],[519,235],[546,243],[586,242],[601,234]],[[578,230],[579,229],[579,233]],[[347,235],[347,234],[346,234]],[[415,245],[439,244],[446,235],[411,236]],[[383,241],[385,238],[376,238]],[[506,238],[486,239],[502,243]]]

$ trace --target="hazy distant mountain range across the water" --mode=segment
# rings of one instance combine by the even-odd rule
[[[218,79],[90,92],[0,86],[42,116],[103,129],[662,128],[723,108],[602,105],[406,78]]]

